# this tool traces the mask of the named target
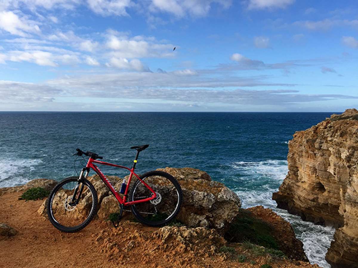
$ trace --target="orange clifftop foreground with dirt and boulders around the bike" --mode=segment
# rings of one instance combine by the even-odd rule
[[[272,210],[240,209],[237,195],[222,183],[212,181],[202,170],[163,170],[178,179],[185,198],[178,216],[182,223],[163,228],[128,220],[122,220],[117,229],[113,228],[105,219],[110,212],[116,212],[118,205],[112,203],[108,189],[96,176],[88,179],[97,190],[98,217],[83,231],[71,234],[59,232],[43,217],[46,216],[45,200],[18,199],[33,187],[50,190],[55,181],[37,179],[23,186],[0,188],[3,204],[0,219],[4,222],[0,222],[1,264],[4,267],[23,267],[26,262],[26,267],[39,266],[39,263],[44,267],[102,267],[105,263],[106,267],[318,268],[307,262],[302,243],[295,238],[291,225]],[[113,185],[121,182],[114,176],[108,179]],[[85,208],[86,204],[81,205],[81,209]],[[225,229],[234,221],[246,237],[230,239],[230,242],[224,239],[223,233],[227,237]],[[69,244],[73,248],[86,245],[81,250],[81,258],[78,254],[68,255]],[[19,250],[22,248],[26,254]]]

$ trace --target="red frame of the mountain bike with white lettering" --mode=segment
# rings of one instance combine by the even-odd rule
[[[138,155],[137,155],[138,157]],[[121,204],[121,205],[124,205],[124,206],[129,206],[129,205],[133,205],[133,204],[137,204],[137,203],[143,203],[143,202],[147,202],[147,201],[150,201],[150,200],[153,200],[154,198],[156,198],[156,193],[154,192],[154,190],[148,185],[146,184],[141,178],[139,178],[139,176],[137,174],[134,173],[134,168],[135,168],[135,164],[137,162],[137,157],[136,159],[134,160],[134,165],[133,167],[130,169],[130,168],[127,168],[127,167],[124,167],[124,166],[121,166],[121,165],[116,165],[116,164],[111,164],[111,163],[107,163],[107,162],[103,162],[103,161],[98,161],[98,160],[95,160],[93,159],[92,157],[88,159],[88,162],[87,162],[87,165],[86,165],[86,170],[87,170],[87,174],[88,175],[88,172],[89,172],[89,169],[93,169],[97,174],[98,176],[100,176],[100,178],[102,179],[102,181],[106,184],[106,186],[108,187],[108,189],[110,189],[110,191],[112,192],[112,194],[115,196],[115,198],[118,200],[118,202]],[[112,184],[108,181],[107,177],[101,172],[101,170],[96,166],[94,165],[93,163],[96,163],[96,164],[100,164],[100,165],[107,165],[107,166],[111,166],[111,167],[116,167],[116,168],[124,168],[124,169],[127,169],[131,172],[131,174],[129,175],[129,179],[128,179],[128,182],[127,182],[127,187],[125,189],[125,192],[124,192],[124,196],[123,198],[119,195],[119,193],[116,191],[116,189],[112,186]],[[81,175],[83,174],[83,171],[82,170],[82,173]],[[80,178],[82,177],[80,175]],[[128,189],[129,189],[129,185],[131,183],[131,179],[133,177],[133,175],[135,175],[135,177],[137,177],[137,179],[139,179],[141,181],[141,183],[143,183],[145,185],[145,187],[147,187],[150,192],[153,193],[153,195],[151,197],[148,197],[148,198],[144,198],[144,199],[140,199],[140,200],[135,200],[135,201],[130,201],[130,202],[127,202],[127,194],[128,194]]]

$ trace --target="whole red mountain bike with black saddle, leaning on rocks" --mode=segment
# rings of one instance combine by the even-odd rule
[[[89,159],[78,178],[70,177],[62,180],[50,193],[47,214],[54,227],[67,233],[77,232],[86,227],[97,213],[97,192],[91,182],[87,180],[91,169],[98,174],[118,200],[120,208],[118,221],[125,206],[131,206],[134,216],[141,223],[149,226],[160,227],[173,220],[179,213],[183,196],[182,188],[177,180],[170,174],[157,170],[141,176],[134,173],[139,153],[148,146],[146,144],[131,147],[131,149],[137,150],[132,168],[99,161],[97,159],[103,159],[103,157],[98,154],[85,153],[76,149],[77,153],[74,155],[86,155]],[[119,193],[95,164],[124,168],[130,171],[128,182],[123,179]],[[128,195],[133,175],[137,181]]]

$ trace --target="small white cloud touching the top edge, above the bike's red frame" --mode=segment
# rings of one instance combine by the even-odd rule
[[[127,16],[126,8],[133,5],[131,0],[87,0],[89,8],[102,16]]]

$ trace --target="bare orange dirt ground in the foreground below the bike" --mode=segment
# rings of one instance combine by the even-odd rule
[[[0,195],[0,223],[18,230],[13,237],[0,238],[0,267],[223,268],[261,267],[265,263],[270,263],[272,268],[318,267],[269,256],[250,257],[240,245],[230,245],[236,248],[237,254],[249,256],[245,263],[240,263],[232,254],[198,250],[200,241],[194,250],[173,239],[165,242],[168,244],[156,241],[153,233],[158,228],[138,223],[122,222],[120,228],[115,229],[97,219],[78,233],[62,233],[37,213],[43,200],[25,202],[18,200],[20,195],[21,192]]]

